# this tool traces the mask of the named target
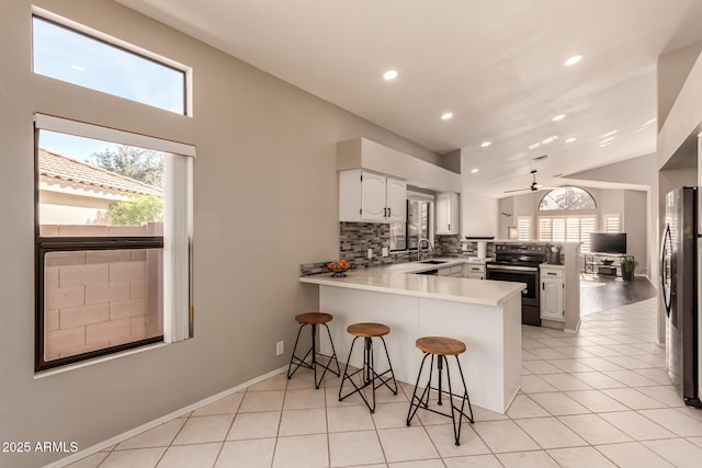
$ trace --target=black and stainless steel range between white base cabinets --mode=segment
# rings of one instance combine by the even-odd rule
[[[487,263],[487,279],[524,283],[522,323],[541,327],[539,311],[539,265],[546,260],[547,247],[533,243],[496,243],[495,261]]]

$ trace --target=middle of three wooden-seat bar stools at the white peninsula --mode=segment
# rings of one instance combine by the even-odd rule
[[[389,388],[393,393],[397,395],[397,381],[395,380],[393,364],[390,364],[390,355],[387,353],[387,344],[385,343],[385,339],[383,338],[384,335],[390,332],[390,329],[389,327],[384,326],[382,323],[354,323],[352,326],[349,326],[347,331],[350,334],[354,335],[355,338],[351,342],[351,350],[349,350],[349,358],[347,359],[347,365],[343,368],[343,377],[341,377],[341,386],[339,387],[339,401],[346,399],[347,397],[350,397],[353,393],[359,393],[363,399],[363,401],[365,402],[365,406],[369,407],[369,410],[371,410],[371,412],[374,412],[375,411],[375,390],[377,388],[384,385],[387,388]],[[352,374],[349,374],[349,362],[351,361],[351,354],[353,353],[353,346],[355,345],[355,341],[359,338],[363,338],[363,341],[364,341],[363,367],[361,367],[360,369],[358,369]],[[389,368],[382,374],[377,374],[375,372],[375,367],[373,363],[373,339],[374,338],[380,338],[383,341],[383,347],[385,349],[385,356],[387,357],[387,364],[389,365]],[[361,386],[358,386],[352,379],[352,377],[359,373],[362,373]],[[389,374],[389,377],[383,378],[383,376],[386,374]],[[376,380],[378,381],[378,384],[375,384]],[[395,388],[388,385],[388,381],[390,380]],[[341,393],[343,391],[343,384],[347,381],[351,383],[351,386],[353,386],[354,390],[351,390],[349,393],[342,397]],[[369,402],[369,400],[366,399],[365,395],[362,391],[365,387],[369,387],[369,386],[371,387],[372,395],[373,395],[372,404]]]

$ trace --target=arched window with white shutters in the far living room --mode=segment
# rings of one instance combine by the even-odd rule
[[[595,198],[584,189],[568,185],[552,190],[539,204],[539,240],[581,242],[581,252],[588,253],[596,209]]]

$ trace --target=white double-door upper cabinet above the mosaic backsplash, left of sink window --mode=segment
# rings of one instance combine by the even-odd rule
[[[339,220],[403,222],[407,218],[407,185],[375,172],[339,172]]]

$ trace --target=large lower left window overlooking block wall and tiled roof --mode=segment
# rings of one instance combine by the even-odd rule
[[[35,128],[35,369],[189,338],[194,148],[43,114]]]

